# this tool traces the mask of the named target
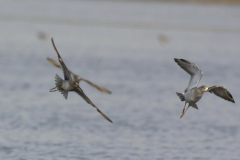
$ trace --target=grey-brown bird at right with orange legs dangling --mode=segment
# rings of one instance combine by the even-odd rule
[[[185,89],[184,93],[177,92],[177,95],[179,96],[180,100],[185,101],[185,105],[180,118],[183,117],[183,115],[186,113],[187,109],[190,106],[192,106],[195,109],[198,109],[196,103],[202,98],[203,93],[205,92],[214,93],[215,95],[225,100],[235,103],[231,93],[222,86],[216,85],[212,87],[207,87],[205,85],[202,85],[201,87],[197,87],[198,83],[200,82],[203,76],[203,71],[196,64],[191,63],[185,59],[174,58],[174,60],[183,70],[185,70],[191,76],[188,86]],[[187,109],[185,109],[187,103],[188,107]]]

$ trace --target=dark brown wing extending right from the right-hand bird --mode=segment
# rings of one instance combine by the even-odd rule
[[[231,102],[235,103],[231,93],[223,86],[212,86],[212,87],[208,88],[208,91],[210,93],[215,94],[216,96],[219,96],[219,97],[227,100],[227,101],[231,101]]]

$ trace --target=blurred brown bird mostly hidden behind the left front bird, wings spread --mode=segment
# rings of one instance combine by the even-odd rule
[[[61,66],[60,66],[56,61],[54,61],[53,59],[47,58],[47,60],[48,60],[52,65],[54,65],[55,67],[61,69]],[[69,71],[69,73],[72,75],[72,77],[73,77],[73,79],[74,79],[75,81],[84,81],[84,82],[88,83],[89,85],[91,85],[92,87],[96,88],[97,90],[99,90],[99,91],[101,91],[101,92],[111,94],[111,91],[109,91],[108,89],[103,88],[103,87],[100,87],[100,86],[98,86],[98,85],[90,82],[90,81],[87,80],[87,79],[83,79],[83,78],[81,78],[80,76],[74,74],[74,73],[73,73],[72,71],[70,71],[70,70],[68,70],[68,71]]]

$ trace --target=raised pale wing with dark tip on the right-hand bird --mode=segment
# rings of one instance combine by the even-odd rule
[[[191,63],[185,59],[174,58],[174,60],[182,69],[191,75],[188,87],[185,89],[185,93],[187,90],[197,87],[203,76],[202,70],[196,64]]]

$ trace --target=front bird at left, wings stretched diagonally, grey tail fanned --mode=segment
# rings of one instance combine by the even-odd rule
[[[55,84],[56,86],[54,88],[52,88],[50,90],[50,92],[55,92],[55,91],[59,91],[63,94],[63,96],[67,99],[68,97],[68,92],[71,92],[71,91],[74,91],[75,93],[77,93],[78,95],[80,95],[87,103],[89,103],[90,105],[92,105],[106,120],[108,120],[109,122],[112,123],[112,121],[105,115],[103,114],[93,103],[92,101],[85,95],[85,93],[83,92],[83,90],[79,87],[79,83],[76,82],[72,77],[71,77],[71,74],[67,68],[67,66],[65,65],[65,63],[63,62],[55,44],[54,44],[54,41],[53,41],[53,38],[51,39],[52,40],[52,45],[53,45],[53,48],[55,49],[57,55],[58,55],[58,60],[59,60],[59,63],[62,67],[62,70],[63,70],[63,75],[64,75],[64,79],[62,79],[61,77],[59,77],[57,74],[56,74],[56,77],[55,77]]]

